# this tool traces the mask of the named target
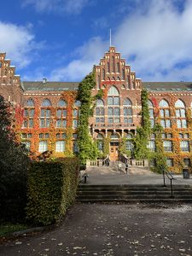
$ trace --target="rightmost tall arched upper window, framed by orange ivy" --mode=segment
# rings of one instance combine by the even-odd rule
[[[183,101],[177,100],[177,102],[175,102],[175,113],[177,119],[177,128],[187,128],[185,104]]]

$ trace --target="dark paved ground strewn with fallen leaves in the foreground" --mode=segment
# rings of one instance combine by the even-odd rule
[[[77,204],[55,230],[0,245],[0,256],[189,256],[192,205]]]

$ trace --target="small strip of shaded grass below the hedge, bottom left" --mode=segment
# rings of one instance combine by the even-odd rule
[[[6,236],[9,233],[13,233],[15,231],[20,231],[20,230],[26,230],[28,226],[26,224],[11,224],[11,223],[6,223],[6,224],[0,224],[0,236]]]

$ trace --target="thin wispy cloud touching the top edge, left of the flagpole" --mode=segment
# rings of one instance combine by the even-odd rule
[[[64,12],[78,15],[87,4],[89,4],[88,0],[23,0],[22,7],[32,5],[40,13]]]

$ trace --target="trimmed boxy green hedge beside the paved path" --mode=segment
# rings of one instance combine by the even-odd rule
[[[77,158],[33,162],[28,172],[26,218],[34,224],[55,223],[75,200],[78,177]]]

